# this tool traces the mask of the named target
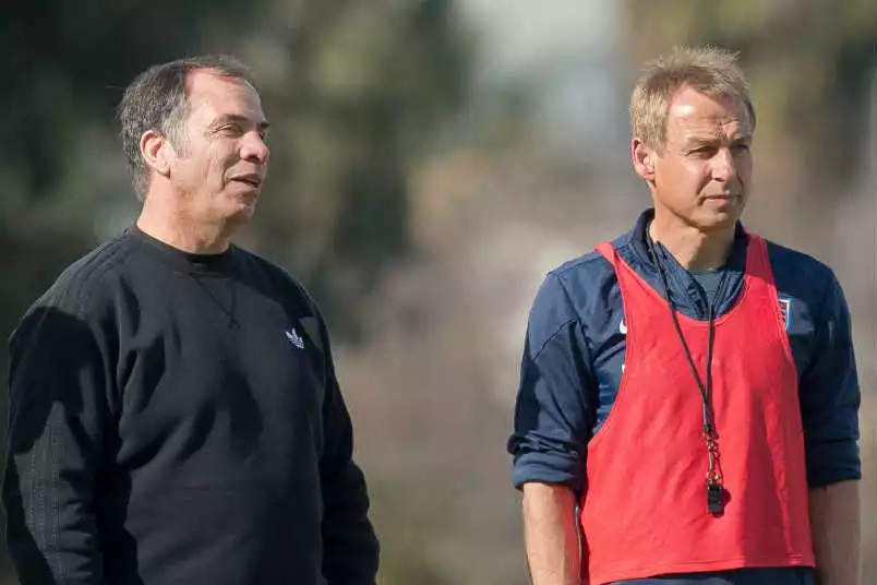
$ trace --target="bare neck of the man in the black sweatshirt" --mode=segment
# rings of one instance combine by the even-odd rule
[[[147,196],[137,217],[137,228],[172,248],[193,254],[218,254],[228,250],[227,226],[196,222],[185,208]]]

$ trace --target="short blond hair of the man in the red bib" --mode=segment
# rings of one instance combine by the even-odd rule
[[[630,129],[650,148],[666,141],[670,102],[689,86],[710,97],[731,98],[746,106],[755,128],[755,107],[749,85],[736,64],[736,53],[718,47],[675,47],[669,55],[646,63],[630,96]]]

